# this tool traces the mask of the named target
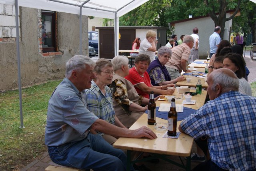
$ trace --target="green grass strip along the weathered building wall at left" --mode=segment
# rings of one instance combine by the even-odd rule
[[[44,145],[44,126],[48,100],[60,82],[52,81],[22,89],[24,129],[19,128],[18,90],[0,93],[1,171],[21,169],[47,151]]]

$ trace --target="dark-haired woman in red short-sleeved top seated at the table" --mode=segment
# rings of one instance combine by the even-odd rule
[[[139,95],[149,99],[150,91],[154,91],[154,94],[172,95],[174,93],[174,89],[167,89],[167,87],[174,87],[174,84],[161,86],[151,84],[149,75],[146,72],[150,64],[148,55],[138,55],[135,58],[134,64],[135,66],[129,70],[129,75],[125,78],[132,83]]]

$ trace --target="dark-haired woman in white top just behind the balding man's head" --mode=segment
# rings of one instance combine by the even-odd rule
[[[224,56],[224,68],[232,70],[239,78],[239,92],[252,96],[250,84],[245,80],[245,63],[243,57],[236,53],[228,53]]]

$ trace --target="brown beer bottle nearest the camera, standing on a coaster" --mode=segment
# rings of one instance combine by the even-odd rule
[[[176,136],[177,131],[177,117],[178,113],[176,112],[176,106],[175,106],[175,99],[172,99],[170,111],[168,113],[168,129],[167,129],[167,135],[168,136]]]

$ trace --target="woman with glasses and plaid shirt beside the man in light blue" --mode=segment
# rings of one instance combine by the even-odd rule
[[[100,119],[126,128],[115,115],[112,93],[107,86],[112,83],[112,78],[115,74],[113,64],[109,60],[101,58],[96,62],[94,74],[96,78],[92,81],[92,87],[85,89],[83,95],[83,98],[87,101],[87,109]],[[113,144],[117,138],[102,132],[96,133],[101,135],[110,144]]]

